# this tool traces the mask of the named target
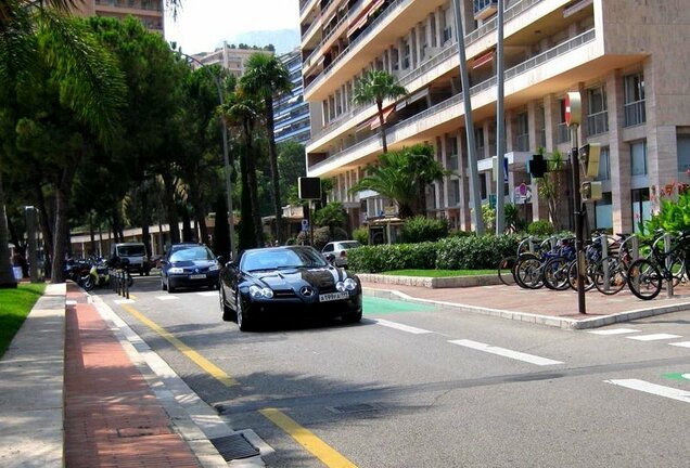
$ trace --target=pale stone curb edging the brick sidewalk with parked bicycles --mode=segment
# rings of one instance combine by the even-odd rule
[[[546,325],[563,329],[589,329],[599,328],[614,323],[629,322],[653,315],[662,315],[672,312],[679,312],[690,309],[690,301],[674,306],[661,306],[656,308],[636,309],[628,312],[618,312],[611,315],[587,317],[583,320],[557,317],[552,315],[538,315],[527,312],[515,312],[501,309],[481,308],[476,306],[461,304],[457,302],[436,301],[432,299],[420,299],[395,289],[379,289],[365,287],[363,292],[383,299],[404,300],[406,302],[416,302],[423,304],[432,304],[437,309],[450,308],[461,312],[475,313],[480,315],[495,316],[499,318],[513,320],[518,322],[532,323],[537,325]]]

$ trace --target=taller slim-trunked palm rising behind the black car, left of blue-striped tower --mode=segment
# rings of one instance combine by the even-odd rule
[[[282,204],[280,197],[280,174],[278,172],[278,150],[273,134],[273,98],[292,91],[290,72],[273,55],[255,53],[245,65],[240,82],[244,90],[264,101],[264,119],[268,134],[268,155],[273,187],[273,209],[276,211],[276,238],[283,243]]]

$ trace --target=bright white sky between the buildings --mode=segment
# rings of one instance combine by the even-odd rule
[[[298,0],[182,0],[177,21],[166,15],[165,38],[194,54],[242,32],[298,27]]]

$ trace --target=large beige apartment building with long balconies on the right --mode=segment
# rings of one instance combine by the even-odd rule
[[[354,106],[355,82],[371,68],[394,74],[409,94],[385,103],[389,150],[429,143],[452,171],[427,188],[430,212],[471,225],[463,99],[470,96],[480,193],[496,196],[495,0],[461,0],[467,67],[463,93],[449,0],[301,0],[303,77],[310,103],[307,172],[331,178],[331,198],[355,222],[383,211],[375,193],[348,188],[382,152],[375,106]],[[506,0],[503,12],[506,200],[522,183],[526,212],[548,219],[525,162],[539,147],[571,150],[565,95],[579,91],[578,145],[600,143],[604,196],[590,224],[631,232],[649,219],[667,184],[690,168],[690,9],[683,0]],[[573,188],[563,184],[563,199]],[[565,204],[566,205],[566,204]],[[564,208],[568,225],[568,207]],[[572,212],[572,207],[570,208]]]

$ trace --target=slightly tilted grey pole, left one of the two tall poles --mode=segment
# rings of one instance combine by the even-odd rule
[[[460,0],[452,0],[456,16],[456,36],[458,39],[458,55],[460,58],[460,80],[462,82],[462,102],[464,104],[464,128],[468,140],[468,170],[470,171],[470,192],[472,193],[472,218],[477,235],[484,234],[482,219],[482,198],[480,195],[480,171],[476,167],[476,144],[474,142],[474,120],[472,119],[472,102],[470,96],[470,74],[464,53],[464,28],[460,13]],[[461,158],[462,159],[462,158]]]

